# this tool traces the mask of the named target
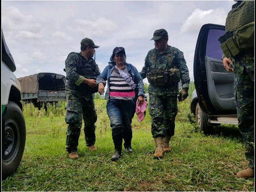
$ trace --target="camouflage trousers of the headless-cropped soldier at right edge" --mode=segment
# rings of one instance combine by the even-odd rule
[[[235,103],[238,128],[245,144],[248,167],[254,169],[254,72],[235,73]]]

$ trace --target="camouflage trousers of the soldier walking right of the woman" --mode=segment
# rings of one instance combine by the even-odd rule
[[[177,96],[158,96],[149,94],[149,114],[153,137],[173,136],[177,115]]]

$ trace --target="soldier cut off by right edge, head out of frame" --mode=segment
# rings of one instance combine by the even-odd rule
[[[239,178],[254,177],[254,1],[238,1],[226,19],[226,41],[220,41],[222,62],[227,71],[234,71],[235,103],[238,128],[245,143],[248,167],[236,174]],[[227,37],[227,34],[233,36]],[[238,38],[239,36],[239,38]],[[239,41],[237,41],[239,39]],[[230,42],[235,46],[229,47]]]

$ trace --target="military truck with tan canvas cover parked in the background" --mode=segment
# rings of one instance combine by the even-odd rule
[[[18,79],[21,85],[21,99],[41,108],[58,105],[66,101],[66,76],[57,73],[37,73]]]

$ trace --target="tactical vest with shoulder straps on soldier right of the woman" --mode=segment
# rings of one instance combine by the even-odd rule
[[[173,53],[167,53],[168,66],[166,70],[150,70],[147,73],[148,82],[154,86],[169,87],[180,81],[180,70],[173,67]],[[151,56],[152,65],[156,68],[157,54],[154,52]]]

